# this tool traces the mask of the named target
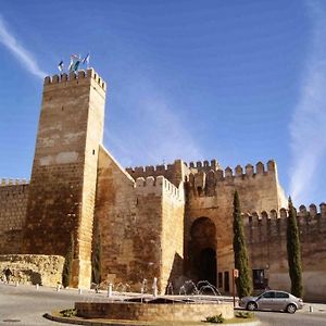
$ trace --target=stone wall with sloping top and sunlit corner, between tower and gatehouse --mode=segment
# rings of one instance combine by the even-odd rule
[[[126,173],[100,149],[96,218],[102,231],[108,283],[151,291],[153,278],[164,292],[172,275],[181,274],[184,191],[163,176]],[[146,279],[146,280],[145,280]]]

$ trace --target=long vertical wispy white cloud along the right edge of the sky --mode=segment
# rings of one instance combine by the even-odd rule
[[[326,161],[326,8],[322,1],[309,1],[308,8],[314,24],[313,41],[290,124],[290,192],[297,204],[313,200],[311,193],[325,178],[321,167]]]

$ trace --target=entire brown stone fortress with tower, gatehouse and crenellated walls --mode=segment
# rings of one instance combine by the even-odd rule
[[[102,278],[139,291],[206,279],[230,291],[238,190],[255,288],[288,290],[287,199],[274,161],[225,170],[216,160],[123,168],[103,143],[106,86],[93,71],[46,77],[30,183],[2,179],[0,254],[65,255],[72,286],[91,281],[93,225]],[[306,298],[326,300],[326,205],[299,209]]]

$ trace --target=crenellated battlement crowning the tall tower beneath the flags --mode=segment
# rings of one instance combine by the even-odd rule
[[[85,71],[78,71],[77,73],[71,72],[70,74],[61,74],[61,75],[53,75],[53,76],[47,76],[45,78],[45,89],[48,86],[53,86],[57,84],[79,84],[80,82],[88,82],[93,80],[96,82],[100,88],[102,88],[104,91],[106,90],[106,84],[105,82],[92,70]]]

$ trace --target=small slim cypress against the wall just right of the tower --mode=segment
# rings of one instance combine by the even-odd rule
[[[95,225],[95,240],[91,256],[91,281],[99,285],[101,283],[101,269],[102,269],[102,238],[99,227],[99,223]]]

